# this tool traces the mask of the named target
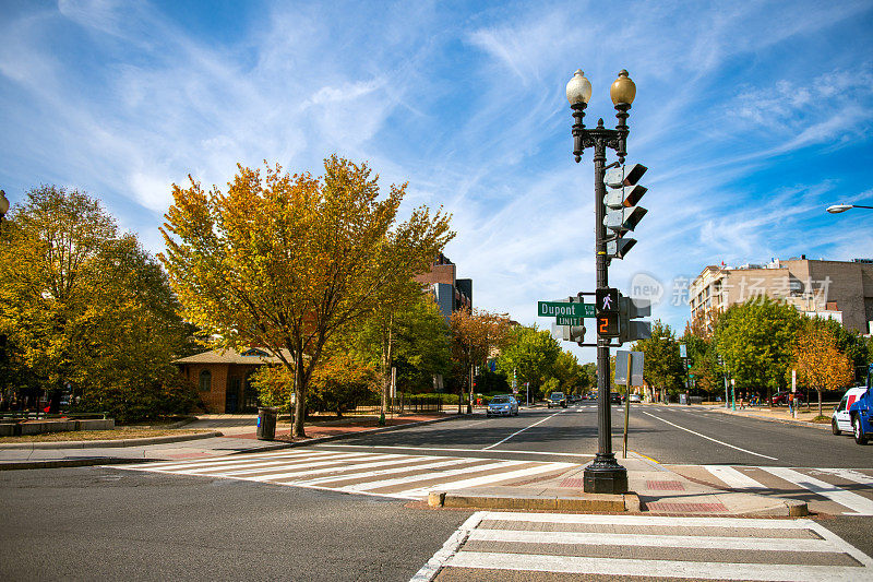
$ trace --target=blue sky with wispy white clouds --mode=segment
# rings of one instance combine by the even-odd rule
[[[627,69],[649,212],[610,282],[658,280],[681,332],[673,282],[707,264],[873,257],[873,215],[824,212],[873,204],[872,29],[871,1],[5,0],[0,187],[85,190],[158,251],[188,174],[224,187],[238,162],[319,173],[336,152],[408,180],[406,211],[452,212],[476,306],[543,326],[537,299],[594,289],[564,87],[582,68],[586,121],[611,127]]]

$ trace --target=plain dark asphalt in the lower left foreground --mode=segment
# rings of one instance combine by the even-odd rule
[[[402,580],[469,515],[232,479],[0,472],[0,580]]]

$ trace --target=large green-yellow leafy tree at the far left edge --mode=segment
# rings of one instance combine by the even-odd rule
[[[4,223],[0,244],[0,334],[9,380],[52,408],[71,391],[81,409],[127,421],[184,412],[196,402],[174,357],[192,329],[160,266],[135,237],[120,235],[99,203],[44,186]]]

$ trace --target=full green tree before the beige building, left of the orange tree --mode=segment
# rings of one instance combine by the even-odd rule
[[[772,403],[773,392],[785,387],[801,318],[790,305],[766,297],[731,306],[718,318],[716,351],[737,390],[765,390]]]

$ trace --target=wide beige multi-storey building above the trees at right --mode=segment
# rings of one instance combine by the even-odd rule
[[[691,283],[692,320],[767,296],[812,317],[836,319],[846,329],[873,333],[873,260],[811,260],[805,256],[766,264],[708,265]]]

